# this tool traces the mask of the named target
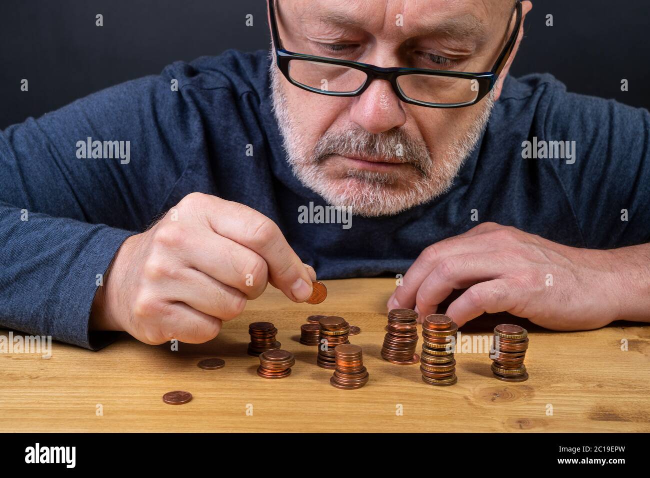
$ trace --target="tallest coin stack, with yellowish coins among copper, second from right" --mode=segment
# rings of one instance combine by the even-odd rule
[[[427,316],[422,323],[422,381],[430,385],[453,385],[456,377],[456,332],[458,325],[443,314]],[[451,337],[454,337],[453,339]]]

